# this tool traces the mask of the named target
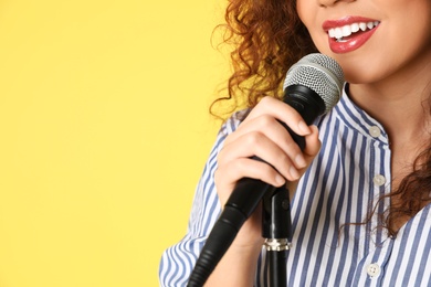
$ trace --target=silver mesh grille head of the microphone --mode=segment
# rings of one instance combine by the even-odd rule
[[[308,54],[287,71],[283,91],[291,85],[306,86],[316,92],[325,102],[325,113],[327,113],[341,96],[343,70],[334,59],[327,55]]]

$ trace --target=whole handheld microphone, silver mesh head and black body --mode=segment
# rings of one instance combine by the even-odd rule
[[[308,54],[288,70],[283,85],[283,102],[295,108],[307,125],[312,125],[337,104],[343,84],[343,70],[335,60],[318,53]],[[282,124],[303,150],[304,137]],[[263,161],[257,157],[253,159]],[[243,178],[238,181],[199,255],[188,287],[203,286],[264,194],[275,189],[256,179]]]

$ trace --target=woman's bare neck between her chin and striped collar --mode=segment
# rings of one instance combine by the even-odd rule
[[[429,61],[369,84],[350,84],[349,96],[386,129],[392,145],[431,134],[431,53]]]

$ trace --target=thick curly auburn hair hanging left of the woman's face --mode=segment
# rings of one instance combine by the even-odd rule
[[[296,13],[296,0],[229,0],[224,18],[219,28],[224,29],[223,42],[234,49],[233,73],[228,95],[211,111],[214,104],[233,100],[234,110],[238,103],[254,107],[264,96],[280,97],[288,67],[317,51]]]

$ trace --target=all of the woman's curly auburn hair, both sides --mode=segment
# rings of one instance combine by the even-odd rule
[[[280,98],[287,70],[306,54],[317,52],[297,15],[296,0],[229,0],[224,17],[227,23],[219,29],[224,31],[223,43],[233,46],[233,72],[228,82],[228,95],[212,103],[212,114],[219,114],[213,113],[219,104],[225,109],[224,104],[229,103],[230,114],[239,108],[239,103],[251,108],[264,96]],[[431,147],[412,164],[413,171],[401,180],[397,190],[383,196],[402,202],[379,214],[380,226],[391,235],[398,232],[392,224],[397,219],[413,216],[431,199]],[[358,224],[369,222],[374,213]]]

